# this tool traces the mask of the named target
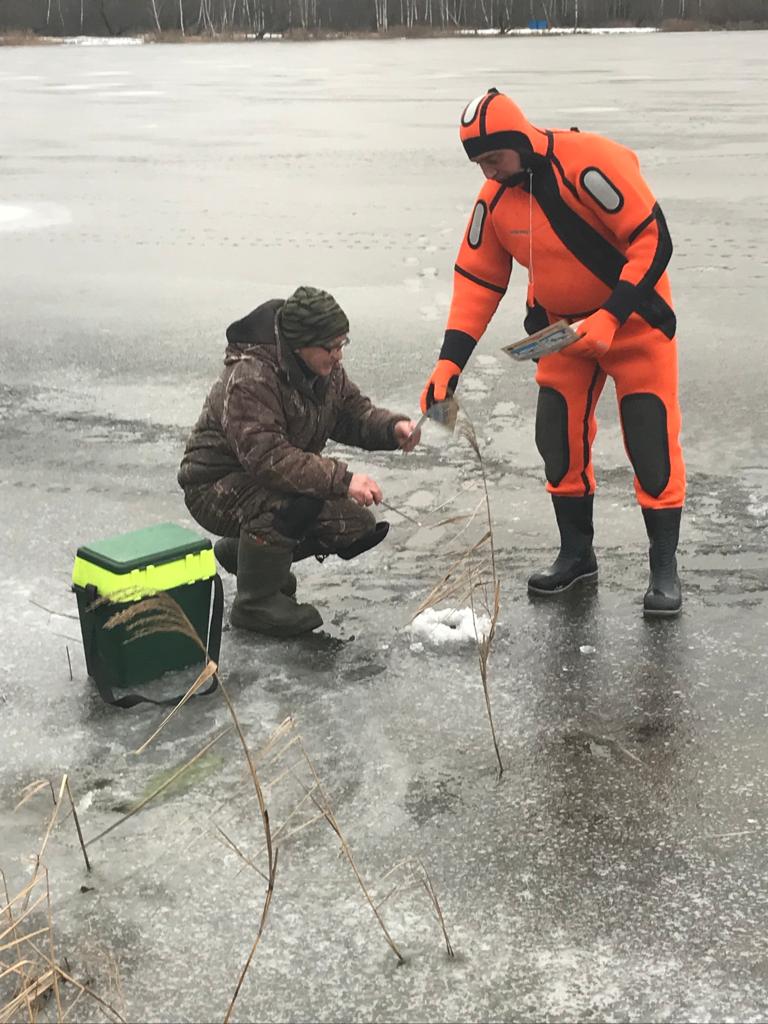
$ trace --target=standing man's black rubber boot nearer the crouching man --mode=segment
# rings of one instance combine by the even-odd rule
[[[575,583],[597,578],[597,559],[592,550],[592,505],[594,496],[552,496],[560,530],[560,553],[549,568],[528,578],[528,591],[547,597],[561,594]]]

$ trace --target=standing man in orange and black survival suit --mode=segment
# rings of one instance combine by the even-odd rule
[[[580,339],[537,369],[536,442],[561,546],[553,564],[530,577],[528,590],[558,594],[597,577],[592,443],[595,406],[609,375],[650,541],[644,613],[676,615],[685,467],[664,214],[632,151],[577,129],[536,128],[496,89],[466,108],[461,140],[487,180],[459,251],[445,337],[422,410],[455,390],[517,260],[528,270],[529,334],[560,318],[582,322]]]

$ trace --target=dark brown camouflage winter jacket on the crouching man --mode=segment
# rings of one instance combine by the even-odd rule
[[[186,442],[182,487],[245,470],[265,490],[343,496],[352,474],[346,463],[321,455],[329,439],[368,451],[397,447],[394,425],[408,417],[376,409],[341,365],[328,377],[307,376],[275,339],[282,304],[259,306],[248,317],[248,337],[241,332],[239,343],[227,345],[224,369]]]

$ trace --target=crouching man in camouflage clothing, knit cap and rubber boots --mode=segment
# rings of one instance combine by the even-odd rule
[[[377,409],[342,367],[349,322],[336,300],[301,287],[226,330],[224,369],[181,461],[193,517],[222,540],[237,572],[233,626],[290,637],[323,625],[296,601],[291,565],[309,555],[353,558],[384,540],[369,506],[382,493],[365,473],[322,455],[329,439],[369,452],[419,442],[406,416]]]

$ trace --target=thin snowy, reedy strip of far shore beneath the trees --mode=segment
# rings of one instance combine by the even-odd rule
[[[613,36],[613,35],[651,35],[657,33],[680,32],[764,32],[768,30],[768,22],[735,23],[713,25],[707,22],[672,20],[660,26],[605,26],[589,28],[558,28],[550,29],[425,29],[419,27],[408,29],[397,26],[387,32],[336,32],[332,30],[301,30],[292,29],[287,32],[274,33],[224,33],[216,35],[200,35],[180,32],[140,33],[136,35],[118,36],[43,36],[35,32],[6,32],[0,34],[0,46],[141,46],[179,43],[272,43],[272,42],[328,42],[330,40],[402,40],[402,39],[473,39],[478,37],[527,38],[545,36]]]

